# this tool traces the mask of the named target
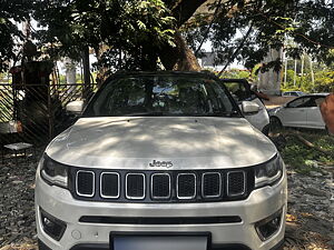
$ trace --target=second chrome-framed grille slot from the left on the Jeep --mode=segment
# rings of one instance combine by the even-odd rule
[[[120,181],[117,172],[102,172],[100,179],[100,192],[102,198],[119,198]]]

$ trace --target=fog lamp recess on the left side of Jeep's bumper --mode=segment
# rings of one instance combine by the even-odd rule
[[[59,219],[56,219],[42,209],[40,209],[40,217],[43,231],[52,239],[59,241],[66,230],[66,223]]]

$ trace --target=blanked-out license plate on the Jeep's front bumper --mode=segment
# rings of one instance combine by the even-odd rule
[[[110,234],[111,250],[208,250],[208,234]]]

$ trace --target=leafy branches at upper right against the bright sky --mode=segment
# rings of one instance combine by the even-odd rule
[[[269,48],[285,48],[292,58],[306,52],[326,64],[334,61],[331,53],[334,44],[333,1],[229,0],[218,8],[219,14],[206,40],[212,41],[217,60],[224,64],[237,60],[253,69],[267,56]],[[206,32],[198,23],[199,27],[189,26],[187,32],[193,49],[198,48]],[[285,46],[286,38],[293,46]],[[274,60],[263,64],[262,70],[281,67],[282,61]]]

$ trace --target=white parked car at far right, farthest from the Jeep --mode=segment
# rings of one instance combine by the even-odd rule
[[[294,127],[326,129],[320,104],[328,93],[314,93],[298,97],[283,107],[269,110],[272,128]]]

